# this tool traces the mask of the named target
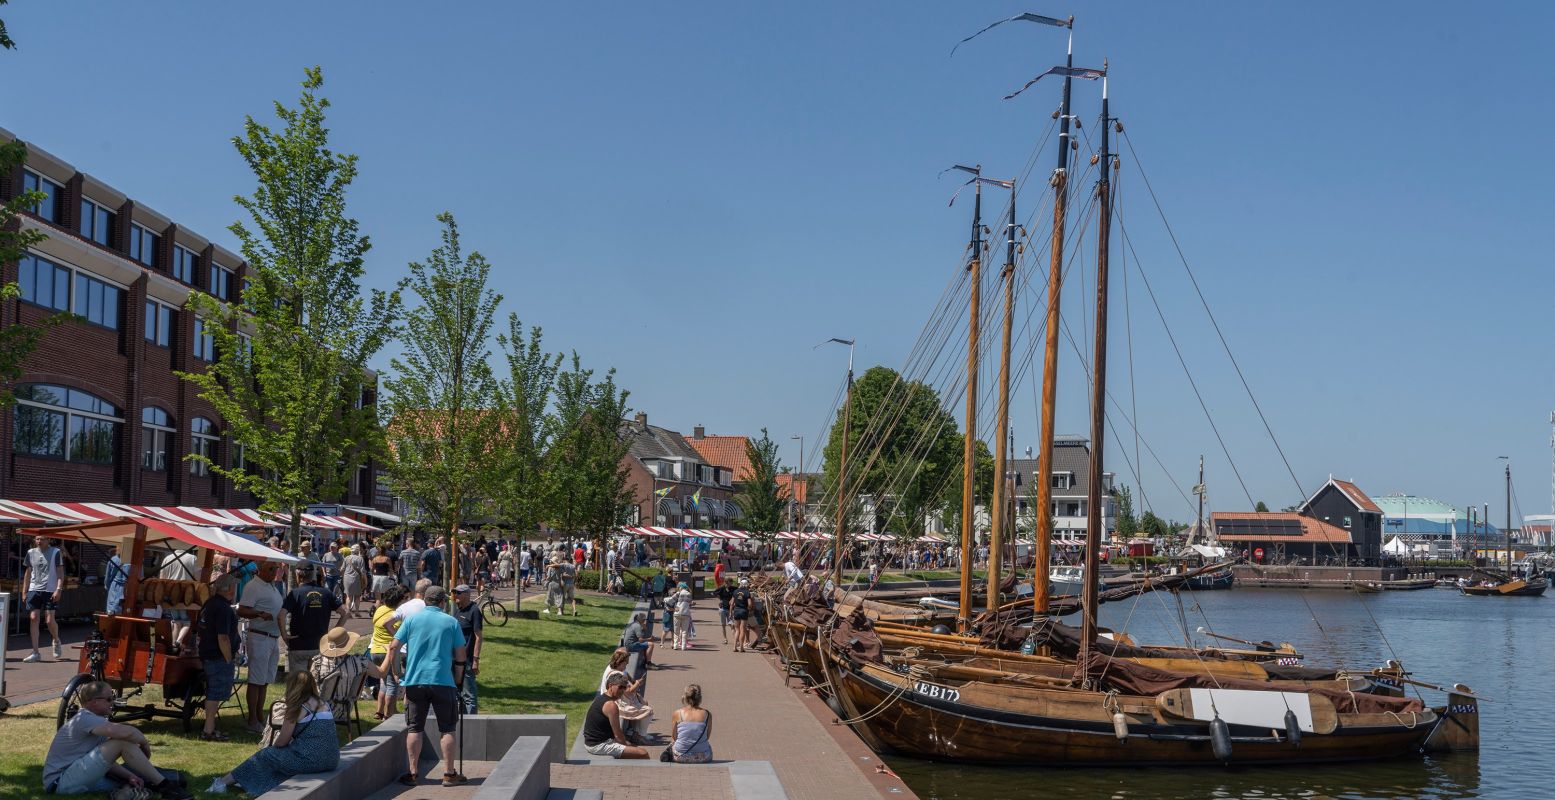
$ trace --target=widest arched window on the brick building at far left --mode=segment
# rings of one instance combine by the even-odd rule
[[[124,422],[101,397],[45,383],[17,386],[12,419],[17,453],[84,464],[114,464]]]

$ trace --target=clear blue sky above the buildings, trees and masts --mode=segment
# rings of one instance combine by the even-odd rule
[[[1336,473],[1375,495],[1490,501],[1501,520],[1507,454],[1521,509],[1549,511],[1547,3],[16,0],[0,8],[20,44],[0,54],[0,125],[232,246],[230,198],[252,177],[229,139],[320,64],[333,143],[361,156],[372,285],[401,277],[453,210],[496,265],[504,313],[617,367],[655,422],[765,426],[793,462],[788,436],[816,450],[846,358],[812,346],[851,336],[860,369],[899,367],[955,269],[967,209],[945,207],[953,182],[936,174],[1015,173],[1047,128],[1056,82],[1000,96],[1062,59],[1061,31],[1011,25],[949,58],[1019,11],[1075,14],[1078,64],[1110,59],[1113,112],[1308,492]],[[1076,96],[1093,120],[1093,87]],[[1124,181],[1247,492],[1294,503]],[[1141,433],[1183,486],[1205,453],[1213,506],[1247,507],[1134,293]],[[1082,433],[1064,355],[1059,431]],[[1126,394],[1124,349],[1112,358]],[[1014,408],[1023,450],[1029,383]],[[1191,515],[1158,468],[1144,489]]]

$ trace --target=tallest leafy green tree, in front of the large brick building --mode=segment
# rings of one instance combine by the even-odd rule
[[[190,458],[288,512],[294,545],[308,503],[339,496],[383,450],[376,409],[364,403],[367,361],[400,313],[397,291],[362,297],[372,244],[345,215],[356,156],[330,149],[322,86],[322,72],[306,70],[299,106],[275,104],[280,131],[247,117],[233,139],[257,179],[253,195],[235,198],[249,223],[230,227],[249,263],[244,308],[193,293],[188,308],[216,358],[179,374],[216,406],[243,462]]]

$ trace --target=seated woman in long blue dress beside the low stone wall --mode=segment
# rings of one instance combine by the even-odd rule
[[[319,697],[319,686],[308,671],[286,679],[285,724],[275,741],[250,755],[238,769],[211,781],[207,792],[225,792],[238,786],[250,795],[261,795],[286,778],[308,772],[328,772],[341,763],[341,741],[334,733],[330,704]]]

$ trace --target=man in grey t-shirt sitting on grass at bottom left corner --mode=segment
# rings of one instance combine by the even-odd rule
[[[188,789],[151,766],[151,742],[140,728],[107,721],[114,713],[114,686],[101,680],[82,683],[76,704],[81,710],[54,733],[44,758],[47,792],[112,792],[114,800],[149,800],[156,791],[163,800],[191,798]]]

